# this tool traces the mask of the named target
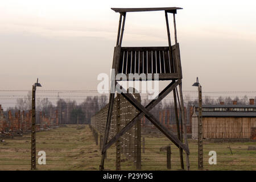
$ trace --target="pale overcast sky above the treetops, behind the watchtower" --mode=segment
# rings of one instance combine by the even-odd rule
[[[112,67],[119,14],[110,7],[182,7],[183,89],[256,90],[255,1],[0,1],[0,90],[96,90]],[[172,25],[172,16],[170,16]],[[173,29],[171,29],[173,33]],[[127,13],[123,46],[167,46],[164,11]]]

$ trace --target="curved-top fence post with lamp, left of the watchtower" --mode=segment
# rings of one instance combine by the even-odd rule
[[[38,80],[32,85],[32,122],[31,122],[31,170],[36,169],[36,86],[42,86]]]

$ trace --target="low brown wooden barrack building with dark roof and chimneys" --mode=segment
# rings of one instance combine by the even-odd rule
[[[197,139],[198,106],[193,107],[192,139]],[[256,140],[256,105],[203,105],[203,138]]]

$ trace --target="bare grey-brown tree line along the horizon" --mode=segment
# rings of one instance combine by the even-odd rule
[[[16,100],[15,107],[10,107],[7,110],[11,110],[15,113],[18,110],[28,111],[31,109],[31,92],[28,92],[27,96],[24,98],[18,98]],[[255,97],[256,100],[256,97]],[[211,97],[204,96],[203,104],[212,105],[220,104],[224,102],[225,104],[233,104],[233,101],[237,101],[237,104],[249,104],[249,98],[245,95],[243,97]],[[88,96],[80,104],[77,104],[76,100],[64,100],[63,98],[58,98],[55,104],[48,98],[36,99],[36,114],[39,117],[40,111],[46,115],[52,115],[55,110],[59,111],[59,123],[61,124],[75,124],[75,123],[90,123],[90,118],[97,113],[102,107],[108,104],[108,96],[102,94],[101,96]],[[142,105],[146,106],[150,101],[144,99],[142,100]],[[186,109],[187,123],[189,123],[189,108],[193,105],[197,105],[197,98],[192,99],[191,96],[187,95],[184,97],[184,106]],[[179,107],[179,101],[177,102]],[[170,110],[170,121],[175,122],[175,109],[174,102],[169,100],[163,100],[158,105],[151,110],[152,114],[156,118],[159,118],[159,111]],[[7,111],[6,111],[7,114]],[[37,117],[37,118],[38,118]],[[167,115],[166,115],[167,117]]]

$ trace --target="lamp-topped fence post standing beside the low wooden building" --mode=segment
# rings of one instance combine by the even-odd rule
[[[198,87],[198,93],[199,93],[199,102],[198,102],[198,132],[197,132],[197,140],[198,140],[198,169],[203,169],[203,107],[202,107],[202,86],[199,83],[198,77],[196,77],[196,82],[192,86]]]

